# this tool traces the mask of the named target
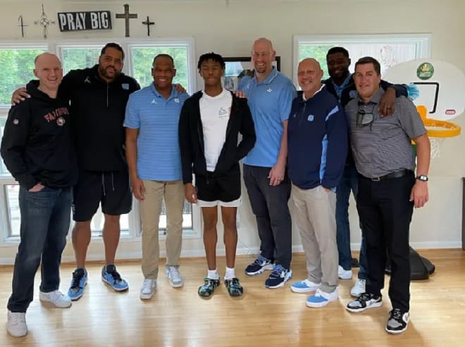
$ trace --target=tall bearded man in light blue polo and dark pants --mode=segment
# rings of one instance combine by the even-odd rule
[[[242,79],[238,88],[249,99],[255,125],[254,149],[243,160],[244,182],[261,241],[259,258],[247,266],[245,273],[259,275],[264,270],[273,270],[266,279],[267,288],[284,286],[292,277],[287,118],[297,94],[290,79],[273,67],[275,54],[269,39],[257,39],[252,47],[255,75]]]

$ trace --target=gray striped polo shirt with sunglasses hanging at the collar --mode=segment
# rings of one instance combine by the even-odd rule
[[[380,117],[378,106],[383,94],[384,90],[380,88],[368,103],[357,95],[345,106],[356,170],[368,178],[414,170],[411,139],[426,134],[414,103],[405,96],[395,99],[393,115]],[[361,125],[361,113],[373,113],[373,122]],[[364,117],[369,120],[370,116]]]

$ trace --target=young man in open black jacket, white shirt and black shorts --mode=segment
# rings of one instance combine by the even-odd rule
[[[226,248],[225,286],[230,296],[243,293],[235,277],[237,245],[236,213],[240,206],[239,160],[254,146],[255,130],[247,99],[238,99],[221,86],[225,62],[216,53],[199,58],[199,74],[205,89],[185,101],[179,122],[182,180],[185,198],[202,208],[204,246],[208,273],[199,296],[211,296],[220,284],[216,270],[216,223],[218,205],[224,226]],[[238,135],[242,141],[237,144]],[[192,172],[196,187],[192,184]]]

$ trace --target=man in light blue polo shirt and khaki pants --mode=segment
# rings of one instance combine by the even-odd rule
[[[126,107],[126,158],[132,193],[140,201],[142,219],[141,299],[154,295],[159,272],[159,217],[166,206],[166,277],[180,287],[182,244],[182,184],[178,122],[182,104],[189,97],[173,86],[174,61],[168,54],[154,58],[154,83],[130,95]]]

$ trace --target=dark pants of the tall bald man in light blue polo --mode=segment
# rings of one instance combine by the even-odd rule
[[[252,212],[256,217],[263,257],[290,269],[292,258],[292,225],[287,201],[290,179],[285,175],[278,186],[271,186],[271,168],[244,164],[244,182]]]

